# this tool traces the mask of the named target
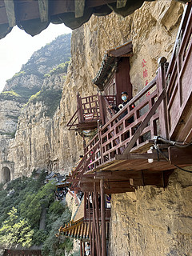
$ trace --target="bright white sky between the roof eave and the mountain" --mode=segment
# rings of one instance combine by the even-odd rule
[[[35,50],[42,48],[60,34],[70,33],[70,28],[64,24],[50,24],[42,33],[32,37],[24,30],[14,26],[10,34],[0,40],[0,92],[6,84],[6,80],[25,64]]]

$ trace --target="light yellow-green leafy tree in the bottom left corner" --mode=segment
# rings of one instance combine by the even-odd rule
[[[14,246],[20,244],[22,247],[30,247],[34,231],[25,219],[18,220],[18,210],[12,208],[9,217],[3,222],[0,229],[0,244],[2,246]]]

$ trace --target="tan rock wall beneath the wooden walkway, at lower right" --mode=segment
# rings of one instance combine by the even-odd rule
[[[192,255],[191,186],[191,174],[176,170],[166,189],[113,195],[110,256]]]

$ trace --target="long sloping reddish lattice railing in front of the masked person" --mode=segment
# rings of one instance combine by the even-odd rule
[[[161,73],[159,73],[161,74]],[[165,98],[165,90],[159,90],[156,77],[117,114],[98,130],[98,134],[86,146],[84,157],[70,177],[78,185],[82,175],[98,169],[115,158],[118,154],[127,154],[146,143],[160,132],[158,106]],[[150,95],[146,97],[146,92]],[[134,105],[134,109],[132,106]],[[122,114],[127,114],[121,118]],[[130,123],[130,118],[134,122]]]

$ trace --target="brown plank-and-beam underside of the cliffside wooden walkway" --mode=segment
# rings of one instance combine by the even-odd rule
[[[106,162],[94,172],[86,172],[76,178],[74,185],[77,190],[93,191],[95,182],[96,190],[99,191],[102,178],[106,194],[134,192],[138,186],[166,187],[175,165],[181,168],[192,165],[192,146],[182,149],[170,146],[163,154],[169,161],[155,151],[150,154],[117,156],[119,159]],[[154,162],[148,162],[148,159],[154,159]]]

